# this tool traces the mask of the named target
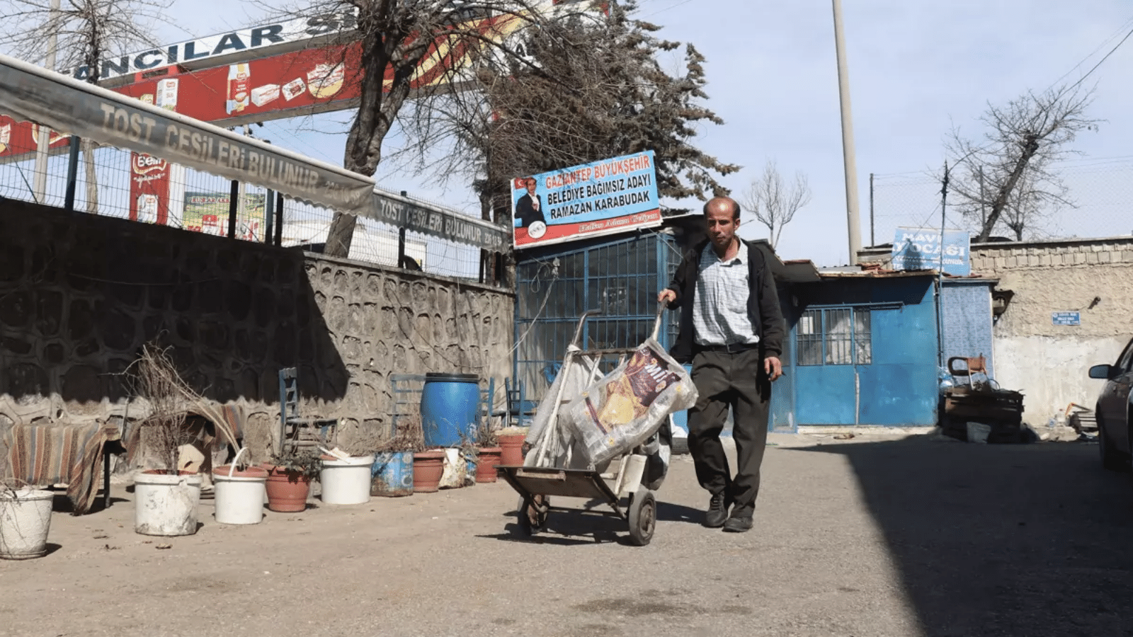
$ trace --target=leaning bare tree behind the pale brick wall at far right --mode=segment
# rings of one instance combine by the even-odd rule
[[[1028,92],[1006,105],[989,103],[977,141],[953,128],[945,142],[954,161],[949,193],[979,226],[976,241],[1000,223],[1022,239],[1051,210],[1074,205],[1054,163],[1074,154],[1068,145],[1080,131],[1097,130],[1099,120],[1085,116],[1092,100],[1093,90],[1077,85]]]

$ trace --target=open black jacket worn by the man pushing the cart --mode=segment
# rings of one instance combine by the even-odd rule
[[[785,330],[778,294],[775,291],[775,280],[772,278],[764,253],[755,244],[743,241],[742,245],[748,248],[748,281],[751,284],[748,295],[748,315],[751,317],[756,334],[759,336],[759,349],[763,356],[778,357],[783,354]],[[692,360],[696,349],[696,340],[692,338],[692,296],[696,294],[697,278],[700,275],[698,267],[700,253],[707,246],[708,240],[705,239],[685,250],[684,258],[673,275],[673,282],[668,286],[668,289],[676,292],[676,298],[668,304],[668,307],[681,311],[676,342],[670,350],[673,358],[680,363]]]

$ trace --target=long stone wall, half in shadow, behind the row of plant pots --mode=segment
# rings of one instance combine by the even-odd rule
[[[349,436],[389,423],[391,373],[502,387],[513,303],[455,279],[6,201],[0,427],[121,414],[122,372],[153,341],[206,398],[248,408],[254,449],[278,427],[281,367],[298,368],[301,414],[341,418]]]

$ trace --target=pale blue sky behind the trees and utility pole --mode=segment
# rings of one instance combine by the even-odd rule
[[[206,10],[210,5],[231,8],[232,1],[177,0],[170,11],[174,19],[162,35],[173,42],[262,18],[250,5],[233,12]],[[870,172],[887,176],[878,179],[877,243],[892,240],[897,224],[938,226],[939,186],[925,179],[910,181],[944,162],[942,141],[953,124],[974,135],[976,119],[987,102],[1041,91],[1059,78],[1077,79],[1133,28],[1133,5],[1127,0],[845,0],[843,10],[866,243]],[[696,44],[707,58],[709,105],[725,125],[705,128],[699,144],[721,160],[744,167],[725,178],[725,185],[742,190],[767,159],[775,159],[784,173],[799,170],[809,177],[813,199],[783,232],[781,256],[821,265],[845,263],[845,189],[829,0],[642,0],[639,17],[664,26],[665,37]],[[1098,86],[1090,114],[1105,121],[1100,131],[1077,139],[1074,147],[1084,154],[1067,167],[1082,207],[1051,220],[1049,233],[1133,231],[1126,205],[1133,202],[1133,188],[1123,190],[1133,181],[1131,76],[1133,39],[1088,80]],[[323,130],[333,127],[325,120],[308,124]],[[344,136],[296,128],[296,122],[270,124],[257,133],[295,151],[341,162]],[[1121,159],[1102,161],[1111,158]],[[410,190],[468,212],[478,210],[470,192],[458,184],[440,189],[426,179],[382,169],[376,177],[389,189]],[[948,224],[955,221],[949,219]],[[748,219],[741,235],[764,237],[766,229]]]

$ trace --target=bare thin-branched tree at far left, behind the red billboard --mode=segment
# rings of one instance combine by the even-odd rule
[[[85,67],[84,79],[96,84],[100,62],[152,45],[153,24],[172,0],[0,0],[8,35],[0,46],[16,57],[54,69]],[[58,6],[56,6],[58,5]],[[54,35],[52,40],[49,34]],[[94,144],[83,142],[87,212],[99,212]]]

